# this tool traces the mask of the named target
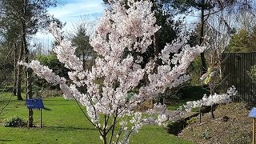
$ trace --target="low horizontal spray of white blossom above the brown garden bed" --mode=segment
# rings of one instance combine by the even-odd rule
[[[231,102],[231,96],[237,94],[237,90],[234,86],[231,86],[229,90],[227,90],[226,94],[210,94],[209,97],[204,94],[202,99],[198,101],[190,101],[186,102],[186,105],[180,107],[179,109],[185,109],[186,111],[191,111],[193,108],[201,107],[201,106],[214,106],[214,104],[222,104]]]

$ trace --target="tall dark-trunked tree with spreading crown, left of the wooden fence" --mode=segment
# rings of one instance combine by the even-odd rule
[[[200,32],[199,32],[199,45],[204,43],[205,30],[204,26],[210,16],[218,14],[223,11],[234,12],[240,9],[248,8],[248,1],[221,1],[221,0],[170,0],[170,7],[178,10],[179,14],[193,14],[194,11],[200,11]],[[206,73],[206,58],[205,54],[201,54],[202,61],[202,74]]]

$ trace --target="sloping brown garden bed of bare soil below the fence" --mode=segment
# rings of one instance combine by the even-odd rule
[[[216,118],[210,114],[187,126],[179,134],[180,138],[197,143],[250,143],[252,140],[252,119],[248,118],[250,110],[245,103],[230,103],[218,106],[214,111]]]

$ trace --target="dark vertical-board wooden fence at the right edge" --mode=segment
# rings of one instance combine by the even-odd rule
[[[222,91],[235,86],[238,90],[235,102],[256,102],[256,82],[248,74],[254,65],[256,53],[222,54]]]

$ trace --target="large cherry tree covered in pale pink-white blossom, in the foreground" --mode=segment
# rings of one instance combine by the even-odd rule
[[[130,134],[137,133],[143,125],[162,125],[167,120],[174,120],[178,112],[168,114],[161,104],[154,104],[154,108],[145,114],[136,107],[157,98],[167,88],[186,82],[189,79],[186,69],[190,62],[205,49],[186,45],[186,37],[178,38],[166,44],[158,57],[141,66],[145,60],[139,54],[146,52],[152,36],[160,28],[155,24],[152,6],[150,1],[128,0],[126,6],[124,1],[110,2],[110,9],[99,20],[90,42],[98,53],[91,70],[84,70],[82,60],[74,54],[75,47],[52,23],[50,32],[59,44],[54,52],[59,61],[70,69],[71,84],[38,61],[20,62],[47,82],[59,85],[65,98],[74,98],[86,106],[86,118],[98,129],[105,144],[128,143]],[[138,53],[138,56],[125,53],[127,50]],[[157,58],[162,60],[161,66],[155,65]],[[140,82],[145,78],[148,82],[142,85]]]

